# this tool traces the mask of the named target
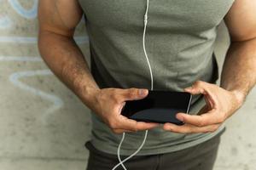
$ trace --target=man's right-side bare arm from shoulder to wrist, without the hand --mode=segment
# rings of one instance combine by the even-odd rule
[[[256,1],[236,0],[224,21],[230,48],[224,60],[220,86],[244,101],[256,83]]]

